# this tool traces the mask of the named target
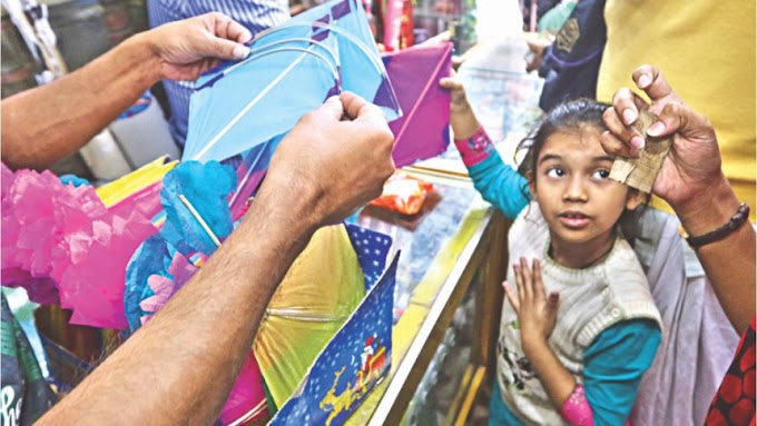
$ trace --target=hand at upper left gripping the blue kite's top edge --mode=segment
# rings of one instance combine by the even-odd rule
[[[243,59],[250,32],[232,18],[212,12],[166,23],[139,34],[159,59],[163,78],[196,80],[219,60]]]

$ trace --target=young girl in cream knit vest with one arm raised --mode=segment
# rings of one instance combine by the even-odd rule
[[[502,161],[460,82],[441,85],[475,188],[515,219],[490,425],[625,424],[660,316],[618,225],[645,197],[609,179],[608,106],[577,100],[549,112],[521,143],[523,177]]]

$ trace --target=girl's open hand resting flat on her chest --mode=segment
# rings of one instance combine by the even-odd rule
[[[513,294],[507,281],[502,283],[502,288],[518,314],[521,345],[528,356],[531,344],[543,345],[552,334],[558,319],[560,295],[551,293],[547,297],[544,294],[539,260],[533,259],[533,269],[524,257],[520,258],[520,264],[515,262],[512,267],[515,273],[518,294]]]

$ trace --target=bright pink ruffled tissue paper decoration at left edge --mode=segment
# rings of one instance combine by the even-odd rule
[[[59,298],[71,324],[127,328],[126,265],[157,229],[136,210],[109,211],[92,187],[65,186],[49,171],[2,165],[1,177],[2,285],[24,287],[42,304]]]

